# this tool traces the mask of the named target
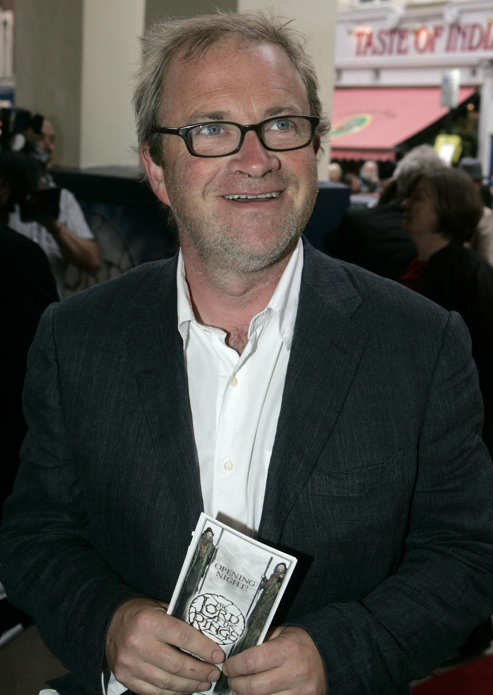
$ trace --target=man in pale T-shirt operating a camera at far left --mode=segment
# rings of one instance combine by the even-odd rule
[[[49,172],[55,151],[55,133],[51,122],[42,115],[35,115],[24,134],[31,147],[35,147],[33,156],[44,165],[45,172]],[[45,174],[45,179],[54,186],[49,173]],[[65,294],[65,270],[69,263],[87,272],[99,268],[97,242],[81,207],[67,188],[60,190],[60,211],[56,220],[24,222],[19,206],[16,206],[9,215],[8,226],[42,247],[48,256],[60,297]]]

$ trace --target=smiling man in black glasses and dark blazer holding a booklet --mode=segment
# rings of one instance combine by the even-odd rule
[[[72,669],[61,695],[205,691],[222,650],[166,613],[204,509],[298,557],[270,639],[222,666],[234,692],[408,692],[493,608],[465,327],[301,243],[326,122],[290,26],[159,24],[138,79],[181,252],[45,313],[8,596]]]

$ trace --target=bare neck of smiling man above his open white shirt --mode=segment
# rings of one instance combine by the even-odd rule
[[[292,250],[268,268],[244,273],[217,272],[187,247],[182,253],[195,318],[224,330],[226,345],[241,354],[250,322],[269,303]]]

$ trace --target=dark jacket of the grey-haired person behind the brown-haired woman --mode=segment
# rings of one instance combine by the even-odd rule
[[[394,280],[408,267],[417,250],[402,229],[401,199],[373,208],[346,210],[339,227],[325,236],[328,254]]]

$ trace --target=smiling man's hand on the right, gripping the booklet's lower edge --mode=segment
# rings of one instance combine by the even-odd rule
[[[327,693],[324,663],[302,628],[276,628],[268,641],[226,659],[222,671],[238,695]]]

